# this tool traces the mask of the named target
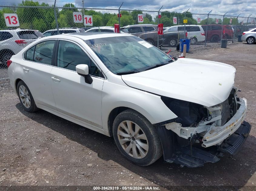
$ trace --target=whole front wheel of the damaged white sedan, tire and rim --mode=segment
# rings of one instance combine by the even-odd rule
[[[118,114],[113,123],[113,136],[121,153],[135,164],[147,166],[162,155],[155,126],[135,110]]]

